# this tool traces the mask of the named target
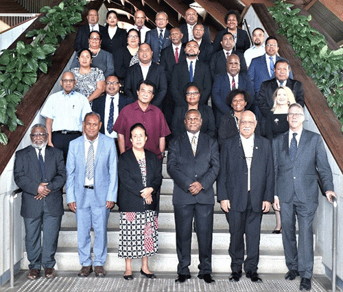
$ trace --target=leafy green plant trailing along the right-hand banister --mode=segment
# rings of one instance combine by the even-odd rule
[[[293,4],[281,0],[269,8],[280,27],[277,33],[287,37],[307,75],[327,97],[329,106],[343,125],[343,48],[328,49],[324,36],[309,25],[311,15],[297,15],[300,9],[291,10],[292,7]]]

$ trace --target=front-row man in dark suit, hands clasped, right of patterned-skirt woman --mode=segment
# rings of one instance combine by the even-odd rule
[[[199,246],[198,278],[215,282],[211,276],[213,232],[213,183],[219,171],[218,144],[200,132],[201,114],[189,110],[185,115],[187,132],[169,143],[167,171],[174,180],[173,205],[176,227],[178,278],[191,278],[191,234],[193,218]]]

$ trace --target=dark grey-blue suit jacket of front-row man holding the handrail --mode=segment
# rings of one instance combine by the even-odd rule
[[[332,172],[319,134],[303,129],[294,161],[289,157],[289,131],[274,138],[275,195],[292,202],[295,192],[300,202],[318,204],[318,175],[324,191],[333,191]]]

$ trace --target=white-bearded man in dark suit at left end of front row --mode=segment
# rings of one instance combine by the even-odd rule
[[[62,151],[47,146],[45,125],[34,125],[29,136],[31,145],[17,151],[14,161],[14,181],[23,190],[21,216],[24,217],[29,260],[27,278],[37,279],[40,267],[45,269],[46,278],[55,278],[55,254],[63,215],[61,188],[66,180],[66,169]]]

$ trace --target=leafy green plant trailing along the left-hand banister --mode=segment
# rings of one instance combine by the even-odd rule
[[[40,19],[44,29],[34,29],[26,34],[35,37],[26,45],[19,41],[15,49],[3,50],[0,56],[0,125],[8,125],[11,132],[23,122],[16,117],[16,106],[37,81],[40,72],[47,73],[51,56],[57,45],[71,32],[73,25],[82,21],[81,12],[86,0],[65,0],[54,8],[43,7],[46,15]],[[0,131],[0,143],[6,145],[8,137]]]

